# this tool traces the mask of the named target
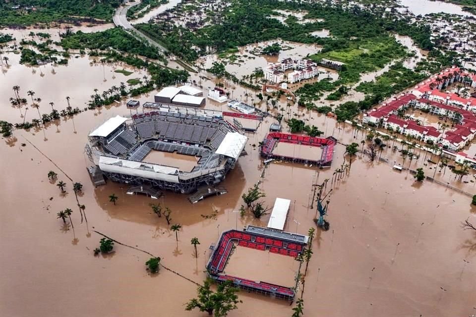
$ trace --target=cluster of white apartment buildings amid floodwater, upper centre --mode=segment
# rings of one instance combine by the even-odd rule
[[[293,71],[286,75],[289,70]],[[286,58],[279,63],[268,63],[268,67],[264,70],[264,78],[272,83],[284,81],[297,83],[303,79],[313,78],[318,74],[317,63],[309,59],[293,60],[292,58]]]

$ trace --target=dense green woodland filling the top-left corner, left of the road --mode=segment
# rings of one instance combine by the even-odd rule
[[[36,23],[111,21],[121,0],[15,0],[0,1],[0,26]]]

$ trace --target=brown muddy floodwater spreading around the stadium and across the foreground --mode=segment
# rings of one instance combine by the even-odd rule
[[[305,277],[304,307],[310,316],[474,313],[476,235],[460,227],[467,218],[476,222],[470,197],[438,184],[415,183],[408,172],[392,171],[391,163],[369,162],[361,155],[353,158],[349,175],[331,180],[344,160],[342,145],[336,146],[330,169],[271,163],[261,178],[264,166],[252,144],[262,141],[273,122],[269,118],[256,134],[248,134],[248,155],[238,159],[221,183],[228,190],[225,195],[192,205],[186,196],[169,192],[157,201],[126,195],[123,184],[95,189],[86,172],[90,163],[84,143],[87,133],[112,112],[129,113],[123,106],[113,109],[61,120],[61,133],[53,126],[45,134],[15,130],[13,139],[2,139],[0,280],[2,289],[8,290],[0,295],[2,315],[157,316],[160,310],[164,316],[207,316],[184,311],[183,304],[195,295],[196,285],[163,268],[150,275],[144,265],[150,256],[116,245],[115,253],[94,257],[101,238],[94,230],[160,256],[165,266],[201,282],[208,248],[220,232],[246,224],[266,226],[269,214],[261,219],[248,214],[237,220],[233,212],[242,204],[241,194],[260,179],[267,206],[273,206],[276,197],[292,201],[285,230],[301,234],[314,226],[312,184],[329,179],[327,190],[333,189],[327,216],[331,227],[327,232],[316,231]],[[328,130],[326,136],[333,134],[343,142],[360,140],[360,136],[353,138],[350,127],[339,129],[330,118],[316,114],[309,118]],[[345,161],[349,163],[348,158]],[[49,170],[58,172],[56,182],[47,179]],[[78,200],[86,206],[87,224],[81,223],[68,177],[84,185]],[[66,194],[56,186],[60,180],[66,182]],[[108,198],[113,193],[119,197],[116,206]],[[178,242],[164,217],[152,213],[151,202],[172,210],[172,224],[182,225]],[[56,218],[66,208],[73,210],[74,231]],[[193,237],[200,241],[197,258],[190,244]],[[232,265],[252,276],[267,276],[265,253],[262,261],[250,265],[247,257],[239,257],[240,251]],[[281,269],[289,274],[283,275],[292,276],[286,265]],[[292,307],[282,301],[246,292],[240,292],[239,298],[243,303],[231,317],[292,314]]]

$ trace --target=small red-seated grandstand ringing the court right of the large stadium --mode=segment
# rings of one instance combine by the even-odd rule
[[[320,156],[313,158],[297,155],[283,155],[274,153],[277,145],[280,143],[290,143],[297,146],[318,147],[322,150]],[[288,133],[273,132],[269,133],[263,140],[261,146],[261,157],[265,159],[280,159],[291,162],[317,164],[318,166],[330,166],[334,153],[335,141],[330,138],[315,138],[309,136],[300,136]]]

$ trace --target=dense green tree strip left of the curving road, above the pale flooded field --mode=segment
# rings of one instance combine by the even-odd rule
[[[81,31],[76,33],[66,32],[62,34],[61,37],[61,46],[64,49],[101,51],[116,49],[118,51],[142,55],[153,59],[163,58],[156,48],[137,40],[121,28],[95,33],[83,33]]]

